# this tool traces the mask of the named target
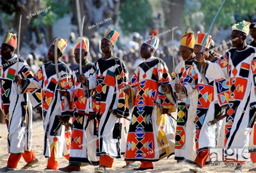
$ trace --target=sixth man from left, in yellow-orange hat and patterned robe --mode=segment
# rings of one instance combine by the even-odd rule
[[[196,158],[195,127],[197,100],[196,86],[193,85],[191,71],[193,62],[195,38],[192,31],[186,31],[180,41],[180,54],[183,58],[174,73],[176,77],[163,89],[171,102],[178,104],[176,127],[175,157],[177,161],[191,163]]]

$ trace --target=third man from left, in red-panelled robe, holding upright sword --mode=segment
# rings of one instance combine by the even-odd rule
[[[80,47],[79,37],[75,46],[75,60],[77,63],[79,63]],[[76,73],[70,90],[70,98],[73,105],[73,127],[69,165],[59,168],[61,171],[80,171],[82,166],[99,164],[99,157],[96,156],[96,140],[93,140],[97,138],[98,125],[95,119],[96,114],[92,109],[92,97],[90,96],[93,91],[84,91],[83,86],[86,86],[84,78],[90,77],[91,68],[93,67],[93,64],[86,59],[88,52],[89,39],[82,38],[83,75]],[[76,70],[79,71],[79,67]],[[68,91],[63,92],[63,95],[65,94],[68,95]]]

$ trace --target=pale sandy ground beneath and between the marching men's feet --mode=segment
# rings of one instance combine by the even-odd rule
[[[33,122],[33,126],[42,124],[42,122]],[[7,146],[6,146],[6,136],[7,136],[7,128],[5,124],[0,124],[0,143],[1,143],[1,149],[0,149],[0,167],[4,167],[6,165],[6,162],[8,160],[8,153],[7,153]],[[25,165],[25,162],[23,158],[18,164],[18,169],[16,171],[10,171],[10,172],[43,172],[44,168],[46,167],[47,159],[43,156],[43,127],[41,126],[38,129],[35,129],[33,132],[33,145],[32,149],[36,153],[37,157],[39,158],[38,167],[32,168],[30,170],[19,170]],[[154,163],[154,170],[152,171],[139,171],[139,172],[190,172],[189,168],[193,167],[193,165],[181,162],[179,164],[174,161],[174,156],[171,156],[170,158],[164,158],[163,160],[159,162]],[[59,160],[59,167],[65,167],[68,164],[68,161],[62,157]],[[139,162],[135,162],[134,164],[137,164],[139,167]],[[132,168],[129,169],[122,169],[122,167],[125,165],[125,162],[123,159],[115,160],[113,163],[113,167],[111,169],[107,169],[107,172],[136,172],[133,171]],[[256,167],[256,164],[253,165],[253,163],[248,163],[246,167],[243,167],[243,172],[248,171],[248,169],[251,169],[253,167]],[[206,166],[204,171],[205,172],[232,172],[234,170],[234,167],[223,167],[223,166]],[[60,171],[51,171],[51,172],[60,172]],[[87,166],[82,167],[81,172],[94,172],[93,166]],[[137,171],[138,172],[138,171]]]

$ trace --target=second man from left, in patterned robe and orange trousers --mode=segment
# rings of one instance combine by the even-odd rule
[[[56,41],[58,45],[56,45]],[[21,79],[17,77],[20,84],[19,92],[31,92],[35,89],[42,89],[42,107],[44,120],[44,156],[48,157],[48,164],[45,170],[57,170],[58,158],[64,156],[69,159],[69,152],[66,148],[65,127],[62,122],[70,119],[70,103],[66,98],[62,98],[58,91],[58,80],[60,87],[70,89],[72,81],[70,79],[71,70],[64,62],[60,61],[67,40],[57,38],[49,48],[49,62],[43,64],[31,79]],[[55,62],[55,46],[57,49],[58,62]],[[55,63],[58,63],[59,76],[57,78]],[[60,122],[60,119],[62,122]],[[65,124],[64,123],[64,124]]]

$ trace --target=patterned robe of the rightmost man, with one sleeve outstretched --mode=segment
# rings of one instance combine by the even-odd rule
[[[249,134],[254,124],[256,92],[256,49],[230,49],[217,63],[206,61],[205,77],[229,80],[230,98],[227,110],[226,147],[248,148]],[[218,73],[212,73],[218,71]],[[251,108],[251,109],[250,109]],[[241,157],[241,153],[238,153]],[[237,160],[237,155],[231,156]]]

